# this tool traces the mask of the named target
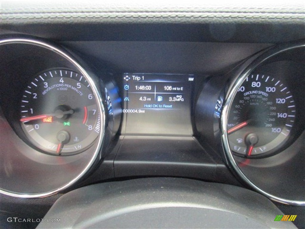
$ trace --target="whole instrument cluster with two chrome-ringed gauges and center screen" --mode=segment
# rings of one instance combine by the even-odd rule
[[[31,38],[0,47],[7,56],[0,63],[2,193],[58,193],[107,160],[113,178],[127,165],[135,166],[132,176],[175,176],[175,169],[156,172],[164,163],[198,163],[215,175],[220,163],[273,200],[305,204],[302,43],[262,50],[218,75],[110,71]],[[276,174],[297,170],[279,183]]]

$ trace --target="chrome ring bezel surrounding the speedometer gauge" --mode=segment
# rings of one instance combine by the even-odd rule
[[[239,165],[235,161],[234,154],[230,149],[229,146],[229,140],[228,140],[228,134],[227,134],[227,122],[228,122],[228,116],[229,116],[229,110],[233,103],[233,100],[235,98],[235,95],[239,89],[239,87],[242,85],[242,83],[245,81],[246,77],[248,77],[251,73],[255,72],[256,68],[259,67],[261,64],[263,64],[265,61],[269,60],[271,57],[274,57],[280,53],[297,49],[297,48],[304,48],[305,45],[302,43],[295,43],[295,44],[287,44],[283,46],[273,47],[267,51],[264,51],[264,53],[258,53],[257,55],[253,56],[252,59],[248,60],[246,62],[246,66],[241,71],[241,74],[238,74],[237,77],[233,80],[233,83],[229,86],[228,93],[225,97],[224,104],[221,111],[221,123],[220,123],[220,129],[221,129],[221,139],[222,144],[225,151],[225,156],[229,162],[229,165],[234,170],[235,173],[244,181],[246,184],[248,184],[251,188],[253,188],[255,191],[259,192],[260,194],[263,194],[264,196],[270,198],[273,201],[284,203],[284,204],[290,204],[290,205],[299,205],[304,206],[305,201],[299,201],[299,200],[291,200],[287,198],[281,198],[278,196],[275,196],[273,194],[270,194],[257,185],[255,185],[246,175],[242,172],[242,169],[240,169]],[[250,62],[250,64],[249,64]]]

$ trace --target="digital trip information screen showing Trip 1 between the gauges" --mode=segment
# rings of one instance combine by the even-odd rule
[[[126,134],[191,135],[194,75],[124,74]]]

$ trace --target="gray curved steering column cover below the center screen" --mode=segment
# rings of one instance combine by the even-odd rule
[[[45,216],[62,220],[41,222],[37,228],[295,228],[289,221],[274,221],[277,215],[283,213],[253,191],[163,177],[66,193]]]

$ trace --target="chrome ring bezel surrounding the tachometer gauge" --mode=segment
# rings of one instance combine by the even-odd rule
[[[99,81],[98,81],[98,79],[94,78],[94,75],[91,75],[91,74],[89,75],[88,71],[86,71],[81,66],[81,64],[79,64],[78,58],[76,58],[75,56],[72,56],[72,54],[68,54],[67,51],[64,51],[64,49],[61,47],[57,47],[56,45],[50,44],[48,42],[39,41],[39,40],[32,39],[32,38],[13,38],[13,39],[8,38],[8,39],[4,39],[4,40],[0,41],[0,46],[8,45],[8,44],[36,45],[36,46],[40,46],[41,48],[48,49],[49,51],[54,52],[54,53],[58,54],[59,56],[62,56],[63,58],[65,58],[65,60],[67,60],[67,62],[72,64],[87,79],[87,81],[91,85],[91,89],[95,95],[98,110],[99,110],[99,113],[101,116],[102,125],[101,125],[101,130],[100,130],[99,136],[96,141],[95,150],[94,150],[90,160],[88,161],[88,163],[84,166],[83,169],[81,169],[81,172],[78,173],[78,175],[75,176],[74,179],[69,180],[68,182],[66,182],[66,184],[64,184],[61,187],[57,187],[52,190],[41,192],[41,193],[17,193],[17,192],[11,191],[11,190],[9,190],[9,191],[3,190],[2,187],[0,188],[1,194],[5,194],[8,196],[12,196],[12,197],[18,197],[18,198],[47,197],[52,194],[59,193],[60,191],[63,191],[66,188],[70,187],[72,184],[75,184],[85,174],[87,174],[89,172],[89,170],[92,169],[92,167],[94,167],[95,163],[97,163],[99,161],[99,159],[102,158],[101,148],[103,145],[105,129],[106,129],[106,112],[105,112],[101,92],[100,92],[100,89],[99,89],[98,83],[97,83]],[[84,66],[84,64],[82,64],[82,65]]]

